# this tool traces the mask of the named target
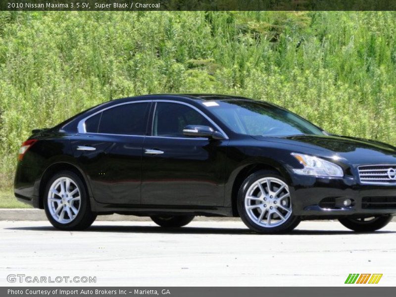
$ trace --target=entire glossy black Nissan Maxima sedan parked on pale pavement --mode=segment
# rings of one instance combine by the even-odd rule
[[[395,147],[241,97],[113,100],[33,130],[18,159],[15,196],[62,230],[120,213],[163,227],[239,216],[260,233],[337,218],[368,232],[396,213]]]

